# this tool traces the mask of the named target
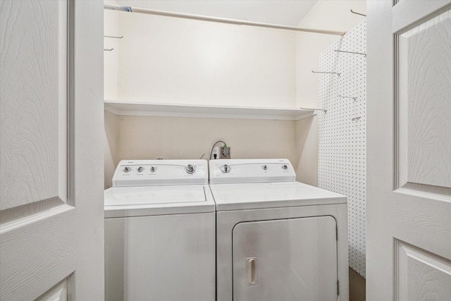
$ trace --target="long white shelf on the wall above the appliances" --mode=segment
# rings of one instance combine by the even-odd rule
[[[105,111],[128,116],[177,116],[204,118],[299,120],[314,111],[296,108],[260,108],[251,106],[203,106],[191,104],[154,104],[146,102],[105,101]]]

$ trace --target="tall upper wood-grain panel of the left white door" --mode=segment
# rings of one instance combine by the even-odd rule
[[[0,210],[66,202],[67,2],[2,1],[0,19]]]

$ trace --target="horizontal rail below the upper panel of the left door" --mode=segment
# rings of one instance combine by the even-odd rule
[[[0,235],[4,300],[34,300],[75,271],[74,207],[63,204],[3,224]]]

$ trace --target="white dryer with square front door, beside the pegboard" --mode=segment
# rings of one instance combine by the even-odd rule
[[[347,197],[287,159],[209,161],[218,301],[349,300]]]

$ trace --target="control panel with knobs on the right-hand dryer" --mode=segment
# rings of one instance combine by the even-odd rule
[[[217,159],[209,161],[210,183],[293,182],[295,169],[288,159]]]

